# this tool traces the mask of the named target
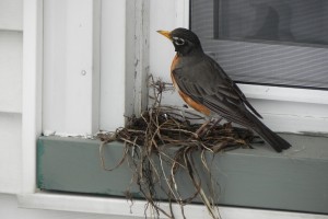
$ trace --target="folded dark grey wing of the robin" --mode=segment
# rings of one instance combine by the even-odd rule
[[[181,92],[227,120],[251,126],[245,105],[261,117],[239,88],[208,56],[183,57],[173,70],[173,77]]]

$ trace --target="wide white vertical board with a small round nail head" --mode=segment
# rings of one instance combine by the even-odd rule
[[[99,0],[44,3],[44,130],[98,130],[99,13]]]

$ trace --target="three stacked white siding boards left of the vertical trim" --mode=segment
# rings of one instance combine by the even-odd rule
[[[1,0],[0,193],[15,194],[20,189],[22,34],[22,0]]]

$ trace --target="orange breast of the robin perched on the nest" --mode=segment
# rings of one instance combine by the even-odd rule
[[[206,107],[204,105],[202,104],[199,104],[197,102],[195,102],[192,99],[190,99],[187,94],[185,94],[183,91],[179,90],[179,87],[178,84],[176,83],[175,79],[174,79],[174,76],[173,76],[173,70],[175,69],[176,65],[178,64],[179,61],[179,57],[177,55],[175,55],[173,61],[172,61],[172,65],[171,65],[171,79],[172,79],[172,82],[173,82],[173,85],[175,89],[178,90],[178,93],[180,94],[180,96],[183,97],[183,100],[192,108],[195,108],[196,111],[209,116],[211,114],[211,111]]]

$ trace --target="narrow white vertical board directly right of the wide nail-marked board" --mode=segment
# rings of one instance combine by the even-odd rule
[[[133,14],[127,12],[127,0],[102,1],[99,128],[103,130],[115,130],[125,125],[126,51],[133,53],[133,48],[126,47],[126,34],[127,28],[132,33],[134,30],[134,26],[127,25],[127,16],[133,18]],[[132,77],[133,68],[129,70],[129,76]],[[133,85],[132,82],[130,85]],[[128,91],[132,93],[132,87]],[[133,102],[131,96],[128,102]]]

